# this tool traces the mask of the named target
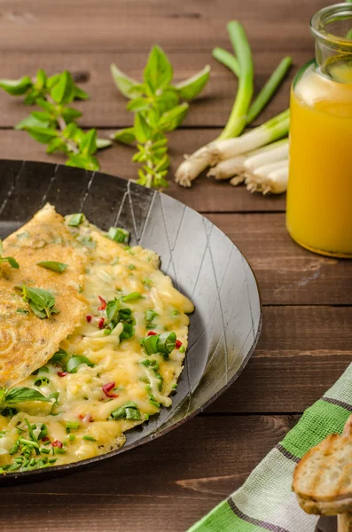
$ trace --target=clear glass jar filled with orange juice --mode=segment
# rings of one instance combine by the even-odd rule
[[[316,59],[291,90],[286,226],[311,251],[352,257],[352,4],[310,26]]]

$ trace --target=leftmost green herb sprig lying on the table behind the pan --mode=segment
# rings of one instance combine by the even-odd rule
[[[75,83],[72,74],[61,72],[48,76],[43,69],[31,79],[0,80],[0,89],[12,96],[24,96],[26,105],[36,105],[40,111],[30,113],[15,129],[25,129],[36,141],[48,145],[47,153],[63,152],[67,166],[98,170],[95,153],[111,145],[97,138],[97,130],[85,133],[77,124],[82,113],[71,104],[75,99],[87,99],[88,94]]]

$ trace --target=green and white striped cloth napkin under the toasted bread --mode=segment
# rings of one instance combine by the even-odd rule
[[[352,364],[307,409],[284,440],[257,465],[245,484],[188,532],[314,532],[318,516],[301,510],[292,492],[300,458],[328,434],[341,433],[352,411]]]

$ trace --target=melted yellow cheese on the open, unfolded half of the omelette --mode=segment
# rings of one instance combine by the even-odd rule
[[[153,320],[153,331],[176,332],[177,340],[187,347],[189,318],[186,313],[192,312],[193,305],[160,271],[158,256],[140,246],[129,248],[117,244],[89,223],[69,229],[74,237],[88,244],[90,259],[82,296],[89,302],[87,314],[92,318],[90,322],[84,318],[82,325],[62,341],[60,347],[70,356],[86,356],[94,365],[81,364],[76,373],[60,376],[62,368],[48,363],[37,375],[30,375],[20,382],[18,386],[36,388],[43,395],[59,392],[59,403],[54,406],[52,403],[22,403],[12,418],[0,415],[0,431],[4,431],[0,437],[0,467],[12,464],[16,458],[16,452],[10,454],[10,450],[19,437],[16,427],[26,431],[25,418],[36,426],[37,431],[46,424],[50,441],[63,443],[62,450],[54,457],[55,449],[51,443],[47,445],[52,453],[50,458],[56,459],[55,465],[91,458],[121,447],[125,442],[124,432],[160,410],[154,401],[171,405],[169,395],[183,368],[184,352],[174,349],[168,360],[160,354],[146,356],[139,341],[149,332],[145,311],[154,310],[158,317]],[[121,323],[106,335],[104,329],[98,328],[99,319],[107,319],[106,310],[98,309],[101,305],[98,296],[110,301],[132,292],[142,295],[142,298],[124,305],[132,310],[134,335],[129,340],[120,340]],[[153,369],[140,364],[145,359],[158,362],[158,372],[163,379],[161,388],[160,378]],[[37,387],[35,382],[38,383],[40,377],[46,377],[49,382]],[[107,383],[114,383],[111,394],[115,397],[109,398],[104,393],[102,387]],[[141,419],[109,419],[113,410],[129,401],[137,404]],[[66,430],[66,424],[70,422],[78,422],[79,426]]]

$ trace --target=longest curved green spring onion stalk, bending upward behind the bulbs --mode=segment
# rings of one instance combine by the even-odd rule
[[[246,114],[251,103],[254,90],[254,67],[252,52],[246,38],[244,27],[237,20],[232,20],[227,25],[233,49],[239,61],[239,87],[235,103],[233,104],[230,118],[218,137],[237,137],[246,126]]]

